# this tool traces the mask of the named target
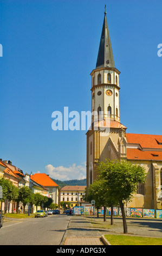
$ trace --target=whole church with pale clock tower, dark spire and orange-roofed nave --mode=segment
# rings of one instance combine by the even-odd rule
[[[98,162],[127,160],[145,167],[128,208],[162,209],[162,135],[127,133],[120,122],[120,71],[114,63],[106,10],[96,67],[92,70],[92,125],[87,135],[87,187],[96,179]],[[98,117],[96,117],[98,115]]]

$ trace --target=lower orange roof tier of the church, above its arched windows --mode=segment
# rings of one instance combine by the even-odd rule
[[[142,151],[140,149],[127,149],[127,159],[162,161],[162,151]]]

